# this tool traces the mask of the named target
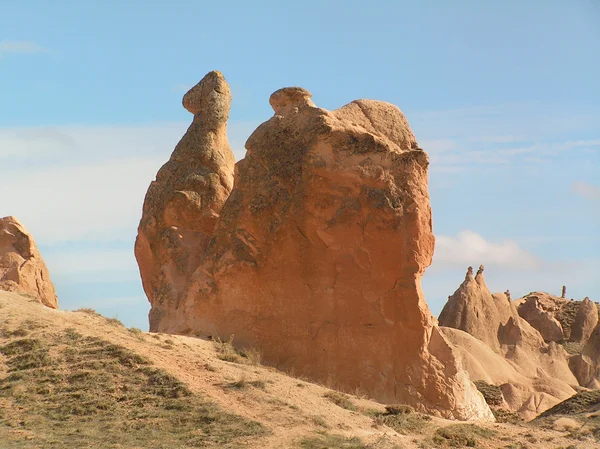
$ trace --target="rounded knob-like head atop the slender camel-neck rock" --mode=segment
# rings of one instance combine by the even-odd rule
[[[194,115],[202,111],[214,113],[215,108],[226,108],[229,112],[231,104],[229,84],[221,72],[217,70],[208,72],[198,84],[187,91],[182,103],[183,107]]]

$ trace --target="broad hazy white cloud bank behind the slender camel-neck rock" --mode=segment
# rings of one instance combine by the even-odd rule
[[[0,216],[44,244],[133,239],[146,190],[187,125],[0,128]],[[237,160],[255,126],[229,126]]]

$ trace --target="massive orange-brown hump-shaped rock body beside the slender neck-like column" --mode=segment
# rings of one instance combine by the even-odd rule
[[[395,106],[271,96],[194,273],[185,323],[281,369],[458,419],[493,417],[435,326],[428,158]],[[163,324],[165,324],[163,326]]]

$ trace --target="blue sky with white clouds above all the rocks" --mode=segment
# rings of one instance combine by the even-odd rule
[[[600,4],[0,2],[0,216],[34,234],[61,307],[147,328],[133,257],[185,91],[229,81],[237,159],[299,85],[407,115],[431,159],[437,314],[468,265],[513,297],[600,300]]]

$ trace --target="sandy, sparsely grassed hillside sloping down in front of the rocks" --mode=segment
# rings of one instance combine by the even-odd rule
[[[0,292],[0,447],[592,448],[593,433],[386,409],[223,342]],[[357,392],[359,393],[359,392]]]

